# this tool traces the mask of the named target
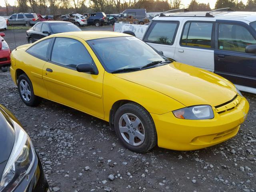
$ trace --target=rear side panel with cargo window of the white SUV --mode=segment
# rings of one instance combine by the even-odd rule
[[[174,59],[175,37],[178,31],[178,21],[153,20],[143,37],[143,41],[162,51],[164,56]]]

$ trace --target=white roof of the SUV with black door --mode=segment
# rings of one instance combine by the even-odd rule
[[[210,13],[212,17],[207,17],[206,13]],[[183,18],[198,18],[198,20],[205,19],[222,19],[222,20],[244,20],[247,22],[256,21],[256,12],[242,12],[242,11],[214,11],[214,12],[175,12],[175,13],[164,13],[165,16],[156,17],[154,20],[176,20]],[[168,18],[168,19],[162,19]]]

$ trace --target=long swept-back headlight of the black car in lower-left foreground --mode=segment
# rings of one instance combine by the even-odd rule
[[[26,132],[13,121],[15,142],[4,169],[0,192],[12,191],[30,172],[35,161],[35,150]]]

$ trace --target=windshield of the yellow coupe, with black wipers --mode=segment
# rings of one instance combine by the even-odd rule
[[[142,68],[152,62],[170,61],[136,37],[114,37],[89,40],[88,44],[98,56],[107,72],[129,68]],[[159,63],[160,65],[160,63]]]

